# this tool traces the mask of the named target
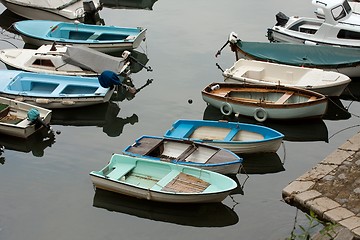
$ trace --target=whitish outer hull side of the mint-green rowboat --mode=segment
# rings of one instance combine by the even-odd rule
[[[141,189],[121,182],[114,182],[108,179],[90,175],[92,182],[96,188],[112,191],[140,199],[147,199],[158,202],[171,203],[207,203],[221,202],[228,195],[229,191],[217,194],[166,194],[147,189]]]

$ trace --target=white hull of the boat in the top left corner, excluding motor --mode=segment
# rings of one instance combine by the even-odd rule
[[[17,1],[1,0],[1,3],[10,11],[19,16],[28,19],[38,20],[55,20],[55,21],[83,21],[84,9],[83,2],[79,1],[68,8],[58,10],[56,8],[40,8],[32,6],[31,4],[25,5]]]

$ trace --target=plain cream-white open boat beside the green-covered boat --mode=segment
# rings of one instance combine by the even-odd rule
[[[225,82],[298,87],[326,96],[340,96],[351,82],[338,72],[249,59],[239,59],[223,76]]]

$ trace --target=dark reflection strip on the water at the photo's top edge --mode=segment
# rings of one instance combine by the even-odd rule
[[[100,3],[107,8],[153,10],[153,5],[156,1],[157,0],[100,0]]]

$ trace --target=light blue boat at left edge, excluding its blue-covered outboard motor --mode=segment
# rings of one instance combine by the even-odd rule
[[[114,89],[97,78],[0,70],[0,96],[53,108],[83,107],[109,101]]]

